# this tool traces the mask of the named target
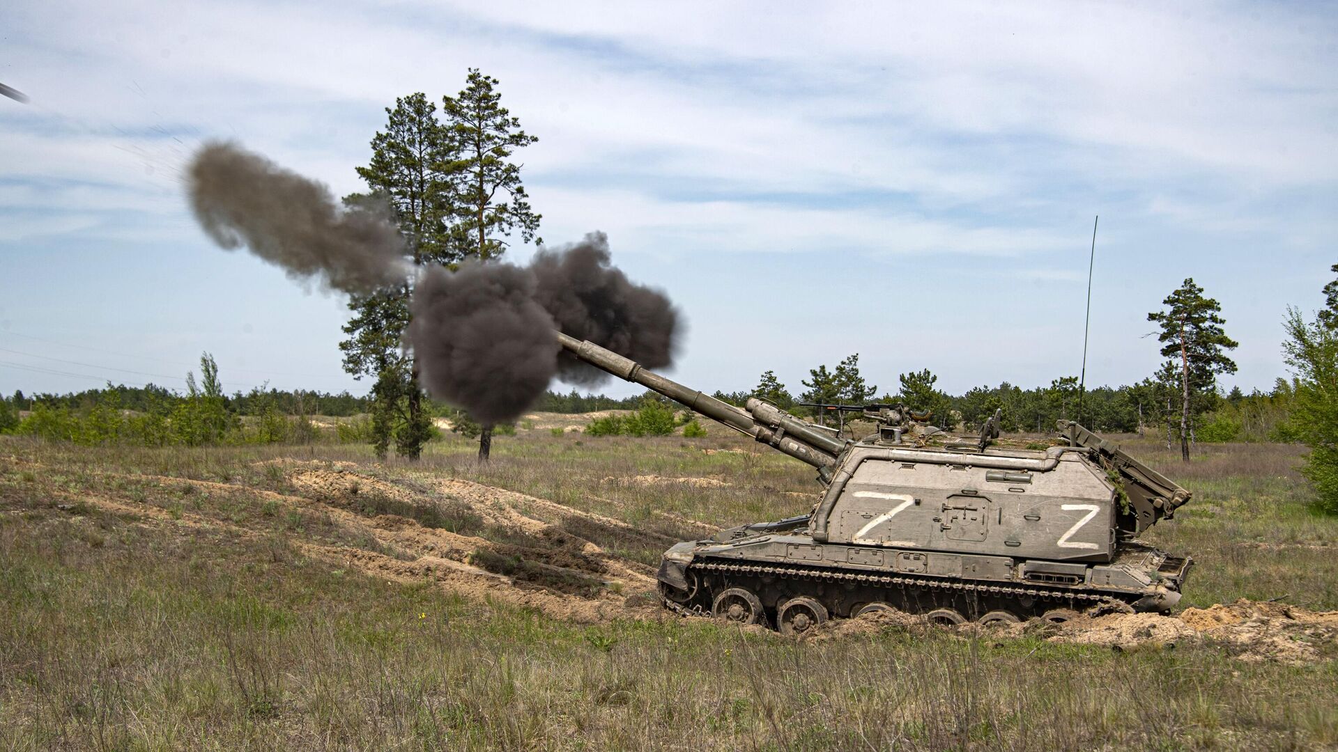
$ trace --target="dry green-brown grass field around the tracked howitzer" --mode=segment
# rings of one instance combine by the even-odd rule
[[[1307,511],[1301,450],[1208,446],[1185,467],[1151,439],[1129,446],[1195,492],[1149,535],[1196,559],[1184,605],[1338,609],[1338,519]],[[522,431],[486,467],[474,451],[448,438],[407,464],[361,447],[0,439],[0,747],[1338,747],[1331,645],[1287,665],[1212,641],[1115,652],[883,628],[799,642],[668,616],[633,591],[665,541],[816,500],[807,466],[721,431]],[[518,531],[464,504],[451,490],[480,488],[464,482],[582,515],[533,502],[551,527]],[[468,561],[526,598],[605,589],[626,617],[462,593],[442,567],[412,569],[423,535],[407,531],[479,542]],[[559,578],[526,558],[539,538],[577,565],[570,539],[597,543],[628,574]]]

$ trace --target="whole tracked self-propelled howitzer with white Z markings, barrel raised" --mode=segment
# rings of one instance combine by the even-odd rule
[[[1009,448],[994,440],[997,416],[963,440],[902,405],[862,405],[878,431],[855,442],[763,400],[739,408],[589,341],[558,340],[818,468],[826,490],[808,514],[665,551],[658,581],[670,609],[800,633],[870,610],[991,625],[1167,612],[1180,599],[1189,559],[1135,537],[1189,492],[1077,423],[1061,421],[1054,446]]]

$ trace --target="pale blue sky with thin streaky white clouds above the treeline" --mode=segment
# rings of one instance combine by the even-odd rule
[[[349,389],[345,301],[211,245],[182,166],[231,139],[360,190],[396,96],[467,68],[539,142],[551,245],[609,234],[685,332],[669,373],[879,393],[1151,375],[1185,277],[1287,373],[1338,262],[1338,9],[1215,3],[68,3],[0,7],[0,393]],[[512,248],[524,261],[531,248]],[[555,388],[565,388],[555,385]],[[611,395],[640,392],[607,384]]]

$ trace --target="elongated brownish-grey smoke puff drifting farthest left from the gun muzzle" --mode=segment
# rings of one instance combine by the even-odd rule
[[[246,245],[289,277],[347,293],[404,281],[404,242],[387,211],[343,209],[324,185],[260,154],[207,143],[189,186],[195,218],[225,249]]]

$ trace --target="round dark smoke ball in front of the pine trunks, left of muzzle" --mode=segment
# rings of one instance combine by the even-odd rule
[[[557,369],[553,317],[534,300],[534,276],[468,261],[425,270],[409,301],[408,341],[432,396],[479,423],[515,420]]]

